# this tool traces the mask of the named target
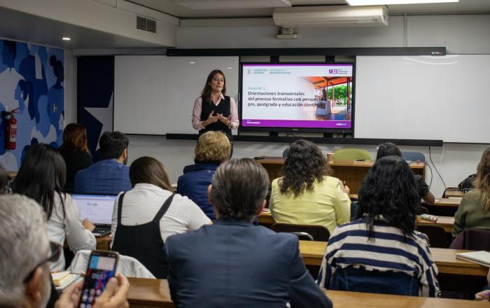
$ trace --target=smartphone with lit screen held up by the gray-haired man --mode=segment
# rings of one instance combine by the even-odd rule
[[[111,277],[116,275],[118,253],[110,251],[92,251],[88,261],[85,281],[80,295],[80,308],[92,308]]]

